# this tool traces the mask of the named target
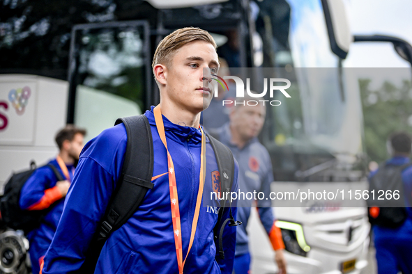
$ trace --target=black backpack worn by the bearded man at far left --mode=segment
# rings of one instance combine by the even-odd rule
[[[58,181],[63,181],[63,176],[60,172],[51,164],[47,164],[56,175]],[[20,192],[24,184],[26,184],[29,177],[36,170],[36,163],[31,161],[30,169],[13,173],[13,175],[8,179],[6,186],[4,187],[3,197],[0,199],[0,211],[1,220],[3,225],[13,229],[22,229],[24,232],[29,232],[30,230],[38,227],[42,218],[52,209],[51,205],[48,209],[28,211],[20,209]],[[56,202],[54,203],[56,204]]]

